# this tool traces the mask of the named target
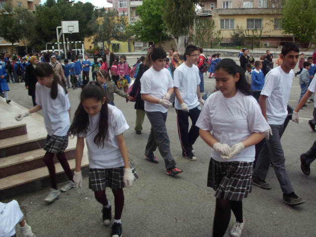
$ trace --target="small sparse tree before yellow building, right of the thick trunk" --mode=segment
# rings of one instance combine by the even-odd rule
[[[196,35],[191,34],[194,44],[200,47],[211,47],[211,45],[217,45],[223,40],[223,36],[221,31],[214,32],[214,29],[214,20],[199,19],[196,23]]]

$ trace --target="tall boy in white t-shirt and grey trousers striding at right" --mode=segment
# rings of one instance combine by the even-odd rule
[[[263,116],[270,124],[270,129],[265,132],[266,140],[253,171],[252,181],[254,185],[270,190],[271,186],[265,182],[265,179],[272,161],[276,178],[283,192],[283,202],[289,205],[300,205],[305,202],[294,193],[285,169],[285,157],[281,145],[284,120],[287,117],[287,103],[294,77],[292,69],[297,64],[299,51],[295,43],[284,44],[280,55],[283,60],[282,65],[271,70],[266,76],[259,105]]]

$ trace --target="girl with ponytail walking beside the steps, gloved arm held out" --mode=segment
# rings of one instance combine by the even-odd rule
[[[45,127],[48,133],[46,144],[43,148],[46,151],[43,161],[47,165],[52,185],[50,193],[44,201],[51,202],[58,197],[61,191],[66,192],[75,187],[74,175],[64,152],[68,146],[67,132],[70,127],[70,102],[67,89],[59,77],[54,74],[53,68],[48,63],[38,65],[34,70],[34,75],[38,79],[35,89],[35,102],[37,105],[30,110],[23,111],[15,119],[21,121],[22,118],[43,110]],[[53,161],[55,154],[69,178],[69,182],[61,188],[61,191],[57,188]]]

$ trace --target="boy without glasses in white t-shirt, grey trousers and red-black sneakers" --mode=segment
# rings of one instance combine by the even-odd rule
[[[167,134],[166,119],[168,108],[171,103],[168,101],[173,94],[173,83],[170,73],[164,68],[166,65],[166,53],[162,48],[153,48],[150,55],[153,67],[147,70],[142,78],[141,96],[145,101],[146,115],[152,124],[145,150],[145,158],[153,163],[158,163],[154,156],[157,147],[161,157],[164,159],[168,175],[182,173],[176,168],[176,161],[171,156],[170,140]]]

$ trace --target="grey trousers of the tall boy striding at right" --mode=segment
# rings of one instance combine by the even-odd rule
[[[281,145],[283,124],[270,124],[270,127],[273,135],[270,135],[270,139],[266,139],[263,143],[256,167],[253,171],[253,176],[260,180],[265,180],[268,174],[269,165],[272,161],[276,178],[280,184],[283,194],[290,194],[294,192],[294,189],[285,169],[285,157]]]

